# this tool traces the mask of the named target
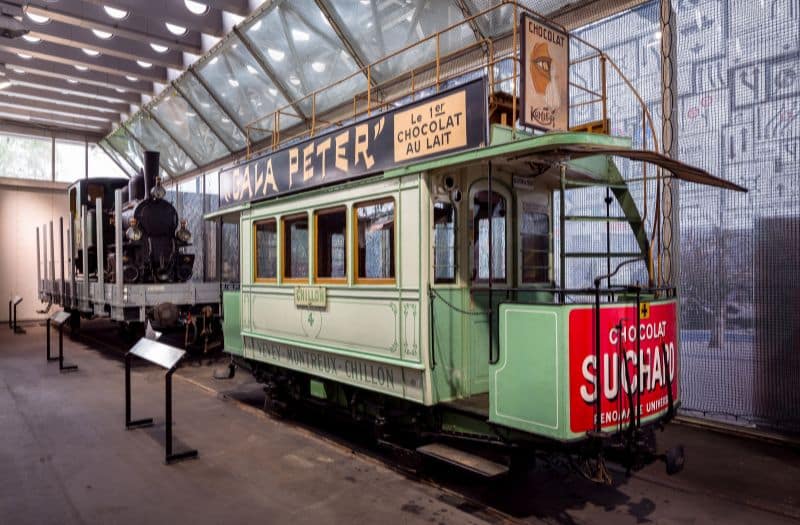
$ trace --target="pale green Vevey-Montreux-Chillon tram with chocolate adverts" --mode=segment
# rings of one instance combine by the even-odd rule
[[[524,451],[634,448],[680,406],[659,248],[677,210],[646,221],[618,164],[647,163],[659,191],[743,188],[630,138],[490,126],[487,91],[465,81],[223,170],[207,218],[239,224],[241,254],[225,350],[276,409],[339,409],[486,475]],[[597,190],[613,214],[570,214]],[[567,229],[606,246],[607,225],[627,251],[570,245]],[[587,259],[602,270],[572,270]]]

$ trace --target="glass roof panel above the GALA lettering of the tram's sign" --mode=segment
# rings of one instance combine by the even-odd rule
[[[232,36],[197,72],[243,129],[286,104],[286,99],[237,36]],[[269,135],[272,119],[265,119],[259,127],[267,131],[252,131],[252,139]]]

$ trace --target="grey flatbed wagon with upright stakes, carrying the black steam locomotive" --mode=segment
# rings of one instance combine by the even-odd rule
[[[188,322],[194,326],[186,333],[194,335],[185,341],[198,343],[203,332],[205,349],[219,314],[220,283],[192,278],[197,232],[164,199],[158,166],[158,152],[148,151],[145,169],[130,180],[83,179],[67,188],[66,220],[37,228],[39,300],[72,312],[73,328],[81,318],[126,328],[150,322],[184,329]]]

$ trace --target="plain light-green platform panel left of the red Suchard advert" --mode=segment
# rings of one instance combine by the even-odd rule
[[[490,367],[489,420],[552,438],[566,425],[563,390],[566,342],[560,307],[500,307],[500,354]]]

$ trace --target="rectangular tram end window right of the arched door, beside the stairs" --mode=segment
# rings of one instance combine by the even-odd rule
[[[550,270],[550,218],[522,203],[519,238],[522,250],[522,282],[547,282]]]

